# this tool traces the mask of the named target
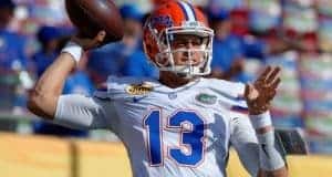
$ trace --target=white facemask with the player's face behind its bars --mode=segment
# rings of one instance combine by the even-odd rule
[[[184,44],[179,44],[178,39],[185,35],[193,37],[193,40],[183,40]],[[154,63],[160,71],[170,71],[183,77],[210,73],[214,38],[211,29],[197,21],[186,21],[180,27],[166,28],[155,38],[159,52],[155,55]],[[187,46],[189,41],[191,46]],[[178,64],[175,61],[176,55],[185,55],[186,60]]]

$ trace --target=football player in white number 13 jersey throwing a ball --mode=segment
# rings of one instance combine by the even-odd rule
[[[60,125],[113,131],[136,177],[227,176],[230,144],[251,176],[287,176],[269,114],[280,69],[268,66],[252,84],[205,79],[212,37],[198,9],[166,2],[144,27],[145,53],[159,79],[110,76],[92,97],[61,91],[82,52],[98,46],[105,31],[73,37],[38,81],[29,108]]]

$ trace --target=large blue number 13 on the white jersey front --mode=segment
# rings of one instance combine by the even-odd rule
[[[152,111],[144,121],[147,131],[147,150],[152,166],[163,163],[163,125],[160,111]],[[167,129],[180,129],[179,147],[169,147],[170,158],[185,166],[196,166],[204,158],[204,121],[193,111],[179,111],[172,115]]]

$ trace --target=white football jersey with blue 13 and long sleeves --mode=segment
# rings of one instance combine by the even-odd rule
[[[156,80],[111,76],[94,97],[61,96],[54,122],[113,131],[135,177],[226,176],[230,145],[256,176],[259,148],[243,90],[215,79],[170,88]]]

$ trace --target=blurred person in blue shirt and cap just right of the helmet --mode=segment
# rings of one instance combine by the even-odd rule
[[[215,30],[212,74],[214,77],[247,82],[250,76],[243,71],[245,60],[264,60],[267,55],[280,53],[294,48],[293,42],[286,42],[266,33],[237,35],[232,33],[230,12],[225,9],[210,9],[209,21]],[[260,37],[260,38],[257,38]]]

